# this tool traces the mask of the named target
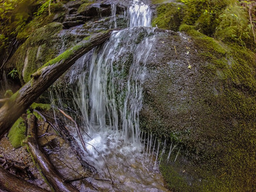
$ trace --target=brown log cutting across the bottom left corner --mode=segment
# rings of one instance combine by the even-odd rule
[[[1,189],[10,192],[47,192],[45,189],[12,175],[0,166],[0,191]]]

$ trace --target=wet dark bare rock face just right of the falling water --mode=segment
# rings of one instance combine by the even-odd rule
[[[177,141],[188,141],[190,147],[196,145],[198,150],[204,150],[198,143],[211,140],[211,132],[216,129],[213,127],[217,114],[209,100],[216,96],[216,82],[201,74],[206,61],[198,56],[189,38],[172,31],[157,34],[143,84],[141,127],[167,138],[177,134]],[[204,132],[200,130],[202,127]]]

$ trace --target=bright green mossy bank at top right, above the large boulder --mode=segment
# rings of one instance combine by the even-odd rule
[[[180,24],[187,24],[223,42],[256,48],[254,1],[180,0],[180,3],[158,4],[153,26],[177,31]]]

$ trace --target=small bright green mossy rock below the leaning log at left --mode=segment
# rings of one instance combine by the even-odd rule
[[[13,147],[19,148],[26,138],[26,124],[23,118],[19,118],[8,133],[8,138]]]

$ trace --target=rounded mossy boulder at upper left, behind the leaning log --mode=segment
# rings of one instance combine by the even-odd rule
[[[38,68],[58,54],[61,46],[58,33],[63,28],[59,22],[52,22],[43,28],[36,29],[13,54],[7,67],[17,68],[20,81],[26,83]]]

